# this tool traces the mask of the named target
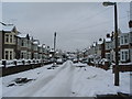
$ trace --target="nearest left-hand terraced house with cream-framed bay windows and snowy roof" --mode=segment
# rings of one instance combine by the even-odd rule
[[[13,24],[8,24],[8,25],[2,25],[2,30],[0,31],[1,31],[0,59],[16,58],[16,35],[18,35],[16,28]]]

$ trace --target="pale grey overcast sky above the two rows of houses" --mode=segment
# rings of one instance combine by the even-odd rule
[[[129,32],[129,2],[118,3],[122,32]],[[101,2],[3,2],[2,21],[51,47],[56,32],[63,51],[86,48],[114,29],[113,7]]]

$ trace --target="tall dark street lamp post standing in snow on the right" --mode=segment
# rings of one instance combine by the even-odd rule
[[[114,67],[114,86],[119,86],[119,50],[118,50],[118,10],[117,2],[103,2],[105,7],[114,6],[114,37],[116,37],[116,67]]]

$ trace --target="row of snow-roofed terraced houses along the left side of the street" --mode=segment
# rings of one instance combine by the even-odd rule
[[[0,59],[44,59],[48,47],[38,40],[21,33],[13,24],[2,23],[0,29]]]

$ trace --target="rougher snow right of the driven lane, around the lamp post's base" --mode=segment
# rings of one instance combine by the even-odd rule
[[[130,73],[120,74],[120,86],[113,84],[111,70],[96,67],[78,68],[75,70],[73,82],[73,97],[96,97],[96,95],[108,95],[117,92],[130,94]]]

